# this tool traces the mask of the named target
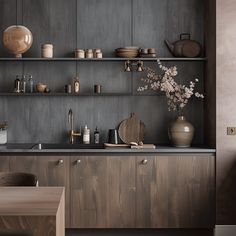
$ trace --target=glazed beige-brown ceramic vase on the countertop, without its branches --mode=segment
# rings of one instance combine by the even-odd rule
[[[184,116],[178,116],[168,129],[170,141],[175,147],[190,147],[194,135],[194,127]]]

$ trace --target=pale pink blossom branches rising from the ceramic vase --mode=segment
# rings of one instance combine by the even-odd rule
[[[155,70],[145,67],[144,70],[147,72],[146,78],[141,78],[145,85],[140,86],[138,91],[141,92],[149,89],[164,92],[167,97],[168,110],[178,112],[183,110],[192,96],[204,98],[203,94],[194,92],[195,85],[199,82],[198,79],[195,79],[194,82],[190,81],[189,86],[178,84],[174,80],[174,77],[178,74],[177,67],[172,66],[168,68],[163,66],[159,59],[157,63],[163,73],[158,75]]]

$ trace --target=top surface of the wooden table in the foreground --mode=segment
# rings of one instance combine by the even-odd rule
[[[64,189],[1,187],[1,216],[56,216]]]

